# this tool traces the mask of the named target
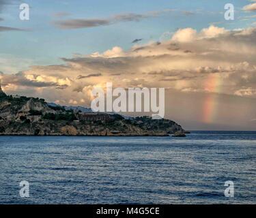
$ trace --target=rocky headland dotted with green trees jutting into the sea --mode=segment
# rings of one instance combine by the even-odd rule
[[[106,121],[78,121],[76,112],[48,106],[44,99],[0,97],[0,135],[31,136],[167,136],[184,131],[167,119],[124,119],[113,114]]]

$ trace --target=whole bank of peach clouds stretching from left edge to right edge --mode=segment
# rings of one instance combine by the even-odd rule
[[[255,98],[255,40],[255,28],[179,29],[161,43],[134,44],[128,50],[114,46],[104,52],[63,58],[60,65],[0,74],[0,78],[9,93],[26,89],[29,95],[42,95],[51,102],[61,99],[62,104],[70,99],[79,104],[83,99],[89,105],[91,89],[104,87],[106,82],[124,88],[165,87],[180,93]]]

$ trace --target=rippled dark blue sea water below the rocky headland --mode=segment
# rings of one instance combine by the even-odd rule
[[[1,136],[0,157],[0,204],[256,203],[256,132]],[[20,181],[29,198],[20,198]]]

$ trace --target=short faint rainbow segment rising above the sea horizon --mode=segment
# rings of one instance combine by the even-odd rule
[[[205,91],[209,92],[203,102],[203,123],[213,123],[218,112],[218,99],[214,93],[221,91],[221,77],[218,74],[210,74],[205,80]]]

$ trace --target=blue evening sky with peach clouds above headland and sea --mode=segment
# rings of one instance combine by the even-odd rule
[[[191,130],[256,129],[255,42],[253,0],[0,0],[6,93],[90,106],[106,82],[164,87],[165,117]]]

